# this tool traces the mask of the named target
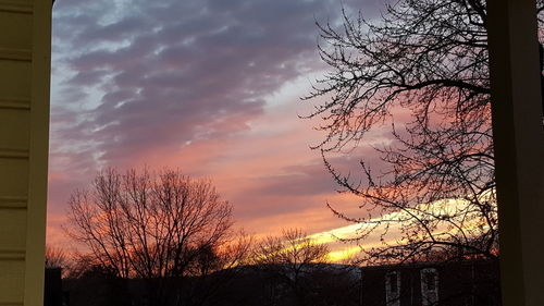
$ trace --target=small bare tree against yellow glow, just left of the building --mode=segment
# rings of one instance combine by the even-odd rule
[[[298,229],[284,230],[282,236],[267,236],[257,243],[251,264],[273,277],[275,292],[279,284],[287,285],[297,305],[307,305],[310,292],[309,277],[329,262],[329,248],[317,243]]]

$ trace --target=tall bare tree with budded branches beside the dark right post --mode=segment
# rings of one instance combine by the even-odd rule
[[[341,192],[359,197],[362,213],[329,206],[361,224],[354,241],[382,235],[368,260],[441,249],[497,258],[485,2],[400,0],[372,22],[343,15],[339,28],[319,24],[331,72],[302,99],[325,100],[306,117],[319,119],[325,134],[314,149]],[[381,163],[363,157],[357,175],[333,164],[331,152],[364,146],[387,126],[387,142],[369,145]]]

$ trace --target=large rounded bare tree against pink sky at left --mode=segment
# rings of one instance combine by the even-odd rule
[[[234,265],[247,248],[233,234],[232,206],[211,182],[174,170],[107,169],[72,194],[69,220],[66,232],[89,250],[88,260],[122,279],[148,280],[159,305],[178,299],[169,283]]]

